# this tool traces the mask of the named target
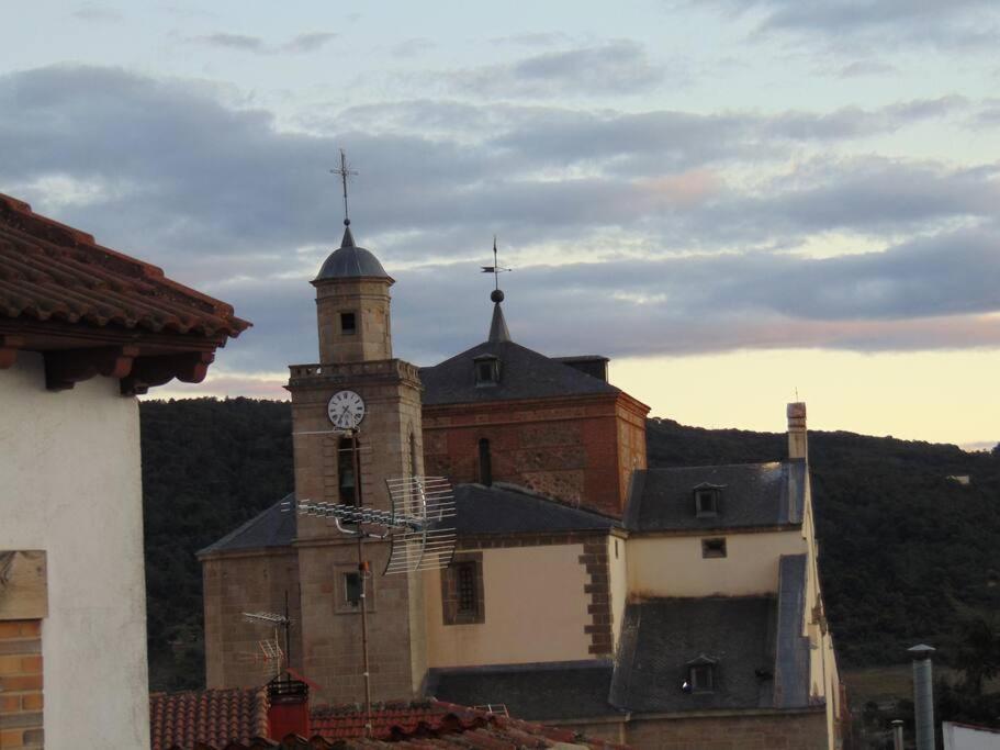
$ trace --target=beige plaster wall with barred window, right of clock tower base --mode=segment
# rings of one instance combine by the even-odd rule
[[[482,550],[485,623],[480,625],[445,625],[440,571],[425,573],[428,665],[589,659],[582,551],[583,545]]]

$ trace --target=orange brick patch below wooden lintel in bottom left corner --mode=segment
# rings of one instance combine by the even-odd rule
[[[0,748],[42,748],[42,620],[0,622]]]

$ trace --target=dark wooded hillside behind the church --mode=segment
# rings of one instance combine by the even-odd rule
[[[141,407],[150,684],[202,683],[194,552],[292,488],[288,403],[146,401]],[[956,620],[1000,606],[1000,452],[810,433],[828,615],[846,665],[899,662]],[[782,459],[785,436],[651,419],[653,467]],[[963,486],[950,474],[970,474]]]

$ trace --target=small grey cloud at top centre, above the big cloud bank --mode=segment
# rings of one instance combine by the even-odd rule
[[[561,98],[640,93],[664,77],[664,69],[650,63],[642,46],[629,40],[541,53],[449,76],[458,90],[479,96]]]

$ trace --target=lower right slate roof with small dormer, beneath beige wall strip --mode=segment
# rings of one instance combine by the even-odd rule
[[[772,705],[775,600],[661,598],[626,607],[610,702],[633,712],[761,708]],[[688,662],[716,660],[710,693],[681,690]]]

